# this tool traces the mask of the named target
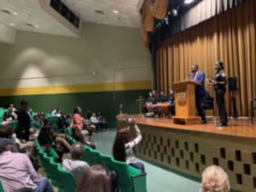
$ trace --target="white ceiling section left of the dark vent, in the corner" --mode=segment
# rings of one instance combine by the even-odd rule
[[[45,13],[38,0],[0,0],[0,4],[0,23],[5,26],[20,31],[77,37],[60,22]],[[6,13],[4,10],[10,13]],[[18,15],[14,15],[14,12]]]

